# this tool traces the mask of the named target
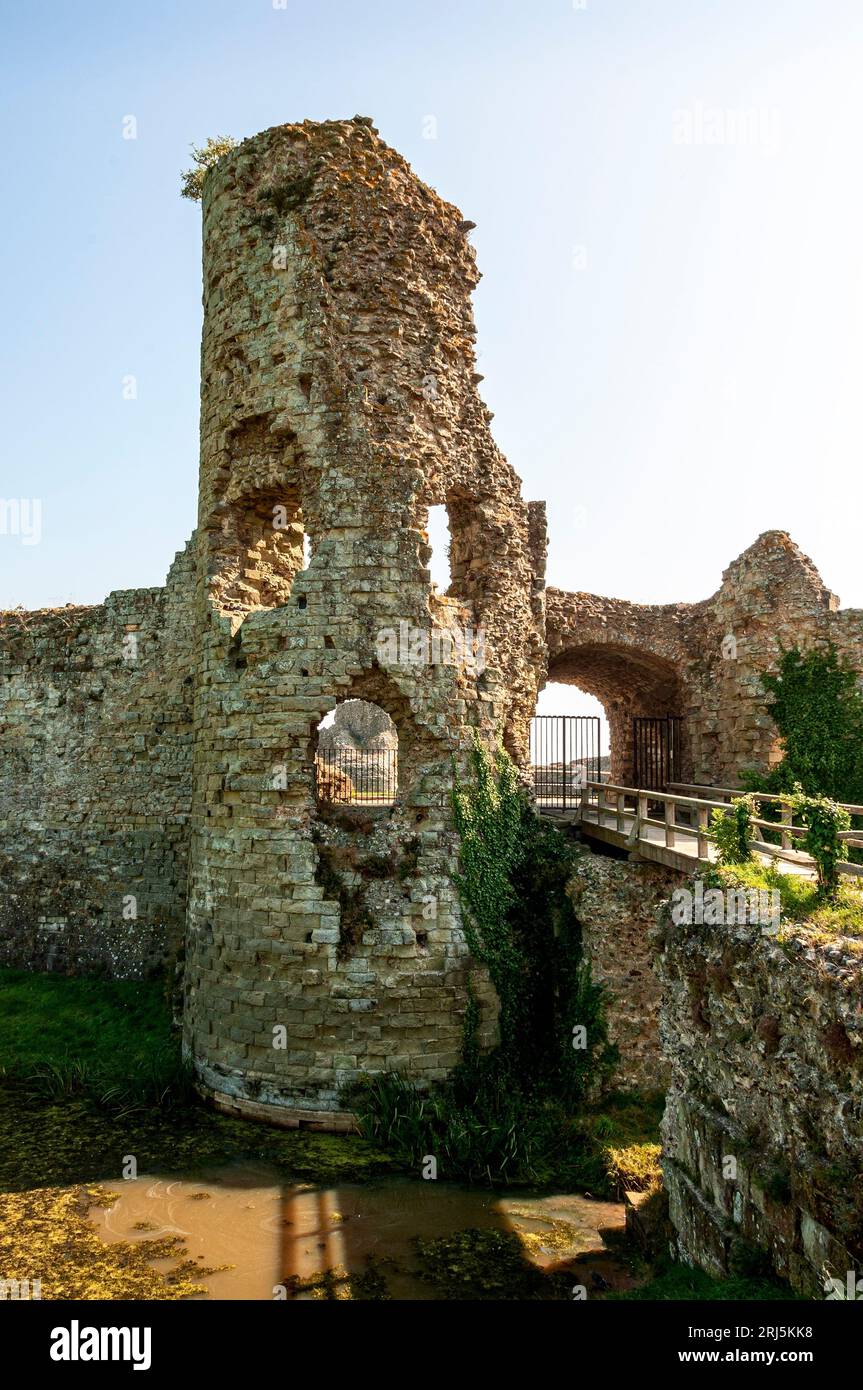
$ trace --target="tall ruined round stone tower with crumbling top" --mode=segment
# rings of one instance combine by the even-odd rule
[[[475,730],[524,762],[545,513],[477,395],[468,229],[360,117],[265,131],[206,179],[185,1047],[243,1113],[336,1127],[364,1072],[445,1076],[471,979],[495,1036],[453,759]],[[399,788],[336,813],[317,730],[357,698],[395,721]]]

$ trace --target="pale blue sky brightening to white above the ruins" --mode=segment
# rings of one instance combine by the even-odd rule
[[[0,15],[0,496],[42,505],[0,607],[161,584],[193,528],[189,145],[357,113],[478,224],[481,389],[549,582],[695,600],[784,528],[863,606],[860,0]]]

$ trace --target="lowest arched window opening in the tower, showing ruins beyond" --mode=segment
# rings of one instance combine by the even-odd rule
[[[392,806],[399,790],[395,723],[370,701],[342,701],[318,724],[314,766],[320,803]]]

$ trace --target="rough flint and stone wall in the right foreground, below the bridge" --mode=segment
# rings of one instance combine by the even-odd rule
[[[828,1276],[845,1287],[863,1261],[859,942],[667,920],[656,944],[681,1258],[714,1275],[771,1268],[814,1297]]]

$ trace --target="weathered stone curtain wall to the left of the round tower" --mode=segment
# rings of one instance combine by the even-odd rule
[[[193,570],[0,614],[0,962],[140,976],[176,955],[190,810]]]

